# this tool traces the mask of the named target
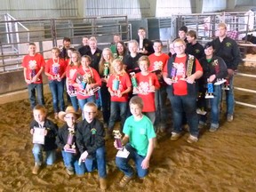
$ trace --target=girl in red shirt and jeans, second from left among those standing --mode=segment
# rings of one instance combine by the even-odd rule
[[[49,87],[52,92],[54,118],[58,119],[58,113],[65,110],[64,84],[66,76],[66,62],[60,59],[60,50],[52,48],[52,59],[47,60],[44,74],[48,76]],[[59,106],[60,104],[60,106]]]

